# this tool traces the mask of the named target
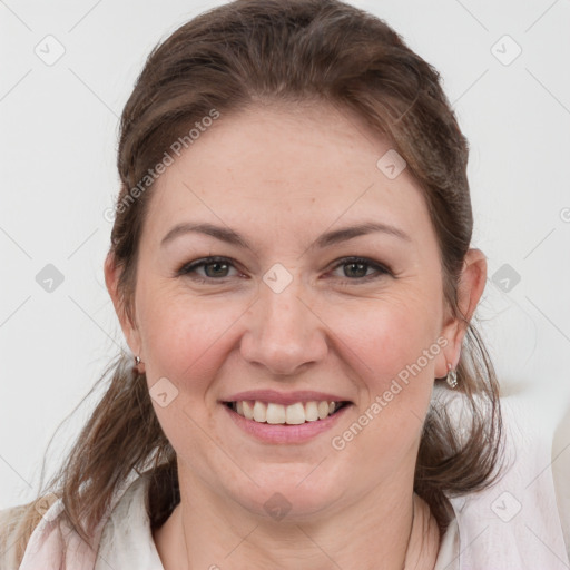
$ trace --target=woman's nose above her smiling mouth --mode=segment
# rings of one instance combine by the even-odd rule
[[[276,293],[262,283],[248,312],[240,342],[242,356],[272,375],[294,375],[321,362],[327,351],[326,326],[312,308],[298,279]]]

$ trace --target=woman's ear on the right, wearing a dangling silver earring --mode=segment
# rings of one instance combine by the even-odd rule
[[[480,249],[469,249],[463,262],[463,269],[458,287],[458,305],[468,321],[471,321],[479,299],[487,284],[487,257]],[[448,374],[446,363],[458,366],[461,356],[461,344],[466,333],[466,326],[459,318],[449,316],[440,336],[448,340],[448,344],[440,354],[435,365],[435,377],[441,379]]]

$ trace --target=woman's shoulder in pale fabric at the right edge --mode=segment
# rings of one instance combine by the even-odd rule
[[[570,393],[546,392],[501,397],[501,475],[451,501],[461,568],[570,567]]]

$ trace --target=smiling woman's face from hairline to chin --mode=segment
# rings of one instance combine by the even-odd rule
[[[464,333],[419,187],[392,155],[377,165],[390,148],[332,107],[252,108],[222,115],[148,190],[136,326],[121,325],[181,482],[288,517],[412,484],[433,379]],[[371,224],[394,229],[347,230]],[[348,404],[316,420],[321,401]]]

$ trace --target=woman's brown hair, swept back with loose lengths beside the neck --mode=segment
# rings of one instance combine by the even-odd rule
[[[459,434],[445,405],[434,399],[415,470],[415,492],[444,530],[450,515],[445,495],[480,490],[499,474],[499,389],[487,348],[456,303],[473,227],[468,142],[438,71],[384,21],[337,0],[237,0],[198,16],[153,50],[120,122],[121,188],[108,262],[120,269],[122,307],[131,318],[153,186],[141,180],[149,169],[174,141],[188,146],[188,137],[180,137],[213,116],[213,109],[224,115],[281,101],[326,101],[341,112],[355,112],[391,141],[424,190],[441,253],[444,298],[466,326],[456,391],[464,394],[471,425]],[[62,497],[65,515],[88,541],[131,470],[151,479],[153,529],[179,501],[176,454],[155,415],[145,375],[131,370],[127,354],[118,355],[99,382],[109,373],[104,397],[45,488]]]

